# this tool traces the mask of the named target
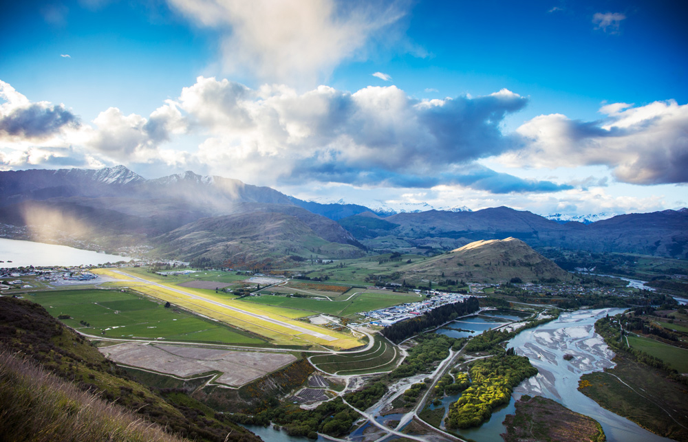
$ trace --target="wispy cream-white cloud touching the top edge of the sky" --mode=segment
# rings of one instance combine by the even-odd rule
[[[226,72],[249,71],[290,85],[314,85],[342,60],[364,57],[365,45],[408,7],[334,0],[168,1],[200,25],[219,30]]]

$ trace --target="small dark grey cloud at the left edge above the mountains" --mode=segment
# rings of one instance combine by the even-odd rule
[[[65,126],[78,126],[79,120],[62,105],[29,104],[0,115],[0,132],[8,135],[42,138],[58,133]]]

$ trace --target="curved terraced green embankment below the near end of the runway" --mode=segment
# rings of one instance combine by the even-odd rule
[[[321,371],[337,375],[363,375],[391,371],[396,367],[400,353],[387,339],[377,335],[371,349],[352,355],[319,355],[310,358],[311,364]]]

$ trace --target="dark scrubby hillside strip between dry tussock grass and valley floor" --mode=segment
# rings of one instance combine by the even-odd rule
[[[23,354],[79,390],[114,401],[172,433],[200,441],[259,440],[244,428],[218,420],[220,415],[208,414],[190,397],[180,404],[129,379],[87,340],[33,302],[0,298],[0,349]]]

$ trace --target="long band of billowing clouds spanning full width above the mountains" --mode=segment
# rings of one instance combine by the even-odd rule
[[[0,85],[2,168],[124,163],[269,186],[454,186],[492,195],[609,185],[607,177],[529,179],[522,175],[528,168],[606,166],[629,184],[688,182],[688,105],[672,100],[606,104],[603,118],[592,122],[539,115],[504,133],[504,119],[528,104],[506,89],[419,100],[395,86],[301,93],[199,77],[148,116],[113,107],[87,124],[61,104],[30,102]],[[522,176],[487,168],[482,159]]]

